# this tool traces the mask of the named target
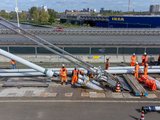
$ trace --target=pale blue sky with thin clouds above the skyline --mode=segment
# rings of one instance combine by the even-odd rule
[[[16,0],[0,0],[0,9],[14,10]],[[149,10],[151,4],[160,4],[160,0],[131,0],[131,9],[135,11]],[[65,9],[100,8],[127,11],[128,0],[18,0],[19,10],[28,10],[32,6],[46,5],[56,11]]]

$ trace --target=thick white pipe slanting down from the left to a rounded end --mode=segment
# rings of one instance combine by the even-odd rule
[[[2,50],[2,49],[0,49],[0,54],[5,56],[5,57],[7,57],[7,58],[16,60],[17,62],[20,62],[20,63],[22,63],[22,64],[24,64],[24,65],[26,65],[28,67],[31,67],[31,68],[33,68],[33,69],[35,69],[35,70],[37,70],[37,71],[39,71],[41,73],[44,73],[48,77],[52,77],[54,75],[52,70],[48,70],[48,69],[45,69],[43,67],[40,67],[40,66],[38,66],[36,64],[33,64],[33,63],[23,59],[23,58],[20,58],[20,57],[18,57],[16,55],[13,55],[13,54],[11,54],[9,52],[6,52],[6,51]]]

